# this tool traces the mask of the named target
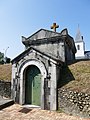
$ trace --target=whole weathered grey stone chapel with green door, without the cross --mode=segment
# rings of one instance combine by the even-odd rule
[[[57,110],[57,83],[64,63],[75,59],[76,48],[67,29],[40,29],[22,36],[25,51],[12,60],[11,96],[15,102]]]

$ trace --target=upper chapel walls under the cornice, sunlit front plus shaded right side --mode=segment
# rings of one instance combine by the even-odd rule
[[[59,58],[63,62],[72,61],[75,59],[75,51],[73,51],[75,49],[74,43],[72,42],[71,45],[68,45],[63,39],[56,39],[49,42],[46,40],[45,43],[39,41],[38,44],[31,43],[27,48],[32,46],[47,55]]]

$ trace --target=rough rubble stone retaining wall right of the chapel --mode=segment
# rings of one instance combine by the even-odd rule
[[[59,88],[58,109],[70,115],[90,118],[90,95]]]

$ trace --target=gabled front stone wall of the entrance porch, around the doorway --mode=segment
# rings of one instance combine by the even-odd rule
[[[23,56],[21,60],[12,65],[12,85],[11,93],[14,101],[20,104],[25,102],[25,77],[24,70],[29,65],[36,65],[42,73],[41,87],[41,108],[42,109],[57,109],[57,65],[56,62],[48,57],[45,57],[34,50]],[[47,86],[45,87],[45,81]],[[46,91],[45,91],[46,89]]]

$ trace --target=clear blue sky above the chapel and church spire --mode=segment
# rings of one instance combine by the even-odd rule
[[[0,0],[0,52],[11,59],[25,50],[22,37],[41,28],[64,28],[75,39],[78,29],[90,50],[90,0]]]

